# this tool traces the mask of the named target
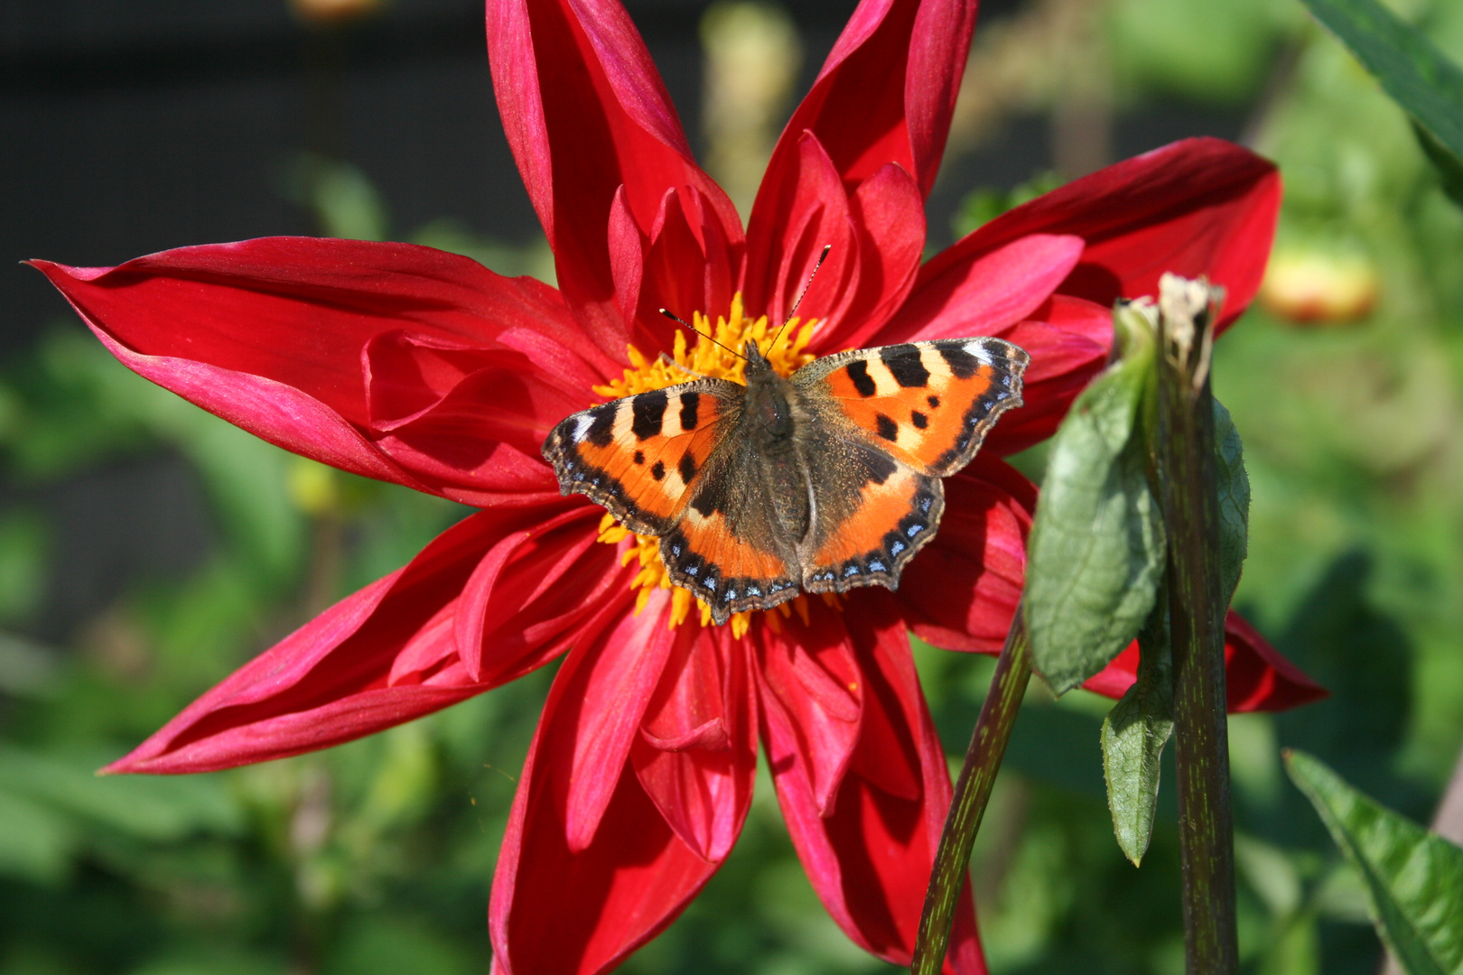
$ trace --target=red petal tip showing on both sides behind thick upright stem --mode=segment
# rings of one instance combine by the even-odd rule
[[[1138,680],[1138,642],[1083,687],[1122,697]],[[1328,696],[1233,610],[1225,617],[1225,683],[1230,713],[1289,710]]]

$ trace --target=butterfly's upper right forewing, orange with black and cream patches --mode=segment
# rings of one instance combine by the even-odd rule
[[[944,478],[1021,405],[1030,361],[1002,339],[938,339],[830,355],[800,368],[793,384],[894,459]]]

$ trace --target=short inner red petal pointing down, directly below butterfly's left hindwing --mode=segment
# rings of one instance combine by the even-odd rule
[[[752,801],[756,715],[739,640],[683,626],[631,759],[641,788],[696,855],[720,862]]]

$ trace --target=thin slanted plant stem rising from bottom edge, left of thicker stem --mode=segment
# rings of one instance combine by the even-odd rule
[[[1007,633],[1005,646],[996,661],[996,672],[990,677],[990,691],[980,707],[980,718],[970,735],[966,750],[966,765],[955,782],[955,795],[949,803],[945,829],[939,835],[939,849],[929,873],[929,892],[925,895],[925,911],[919,919],[919,937],[914,941],[914,960],[910,972],[936,975],[945,963],[945,949],[949,944],[949,925],[955,917],[960,892],[966,886],[970,867],[970,849],[976,843],[980,817],[990,800],[990,786],[996,781],[1001,757],[1011,741],[1021,697],[1031,680],[1031,643],[1026,636],[1021,607],[1017,607]]]

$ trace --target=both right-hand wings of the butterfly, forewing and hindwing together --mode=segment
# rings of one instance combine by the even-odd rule
[[[841,352],[793,374],[825,440],[805,455],[819,509],[799,548],[805,589],[898,585],[939,528],[939,478],[1021,405],[1028,363],[1001,339],[939,339]]]

